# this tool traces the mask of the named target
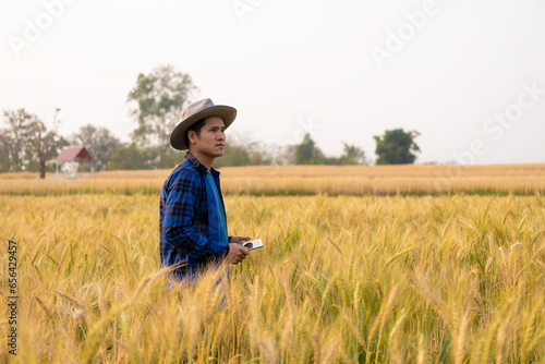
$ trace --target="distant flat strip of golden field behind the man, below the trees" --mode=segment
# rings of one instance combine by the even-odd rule
[[[220,169],[223,194],[425,195],[545,193],[545,165],[496,166],[262,166]],[[0,194],[123,193],[158,195],[170,170],[82,173],[77,180],[0,174]],[[20,183],[21,182],[21,183]],[[23,183],[24,182],[24,183]]]

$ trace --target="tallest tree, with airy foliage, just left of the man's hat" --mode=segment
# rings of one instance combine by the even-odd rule
[[[132,111],[138,122],[133,141],[138,146],[157,148],[159,168],[167,167],[162,162],[170,148],[170,132],[180,121],[194,90],[196,87],[189,74],[175,72],[172,65],[167,64],[147,75],[138,74],[136,86],[129,93],[128,102],[137,105]]]

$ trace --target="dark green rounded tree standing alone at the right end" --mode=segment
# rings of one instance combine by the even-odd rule
[[[416,131],[405,132],[402,129],[387,130],[383,136],[375,135],[377,165],[408,165],[413,163],[420,151],[414,138],[420,133]]]

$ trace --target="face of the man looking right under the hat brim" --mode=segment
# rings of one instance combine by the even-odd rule
[[[208,117],[197,136],[195,132],[190,132],[190,144],[192,150],[207,157],[217,158],[223,155],[226,148],[226,126],[220,117]]]

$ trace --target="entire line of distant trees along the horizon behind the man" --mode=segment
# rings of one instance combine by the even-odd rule
[[[37,116],[25,109],[4,110],[4,128],[0,129],[0,172],[46,171],[56,169],[55,158],[64,146],[83,145],[94,158],[84,170],[162,169],[173,168],[182,159],[170,147],[169,135],[196,86],[189,74],[172,65],[138,74],[136,85],[128,95],[136,129],[131,143],[121,143],[108,129],[87,124],[69,137],[59,135],[57,113],[53,125],[47,128]],[[420,151],[414,142],[420,134],[402,129],[387,130],[375,135],[377,165],[412,163]],[[225,155],[215,167],[249,165],[368,165],[364,150],[343,143],[339,157],[326,156],[307,133],[295,145],[259,147],[257,142],[244,143],[229,138]]]

